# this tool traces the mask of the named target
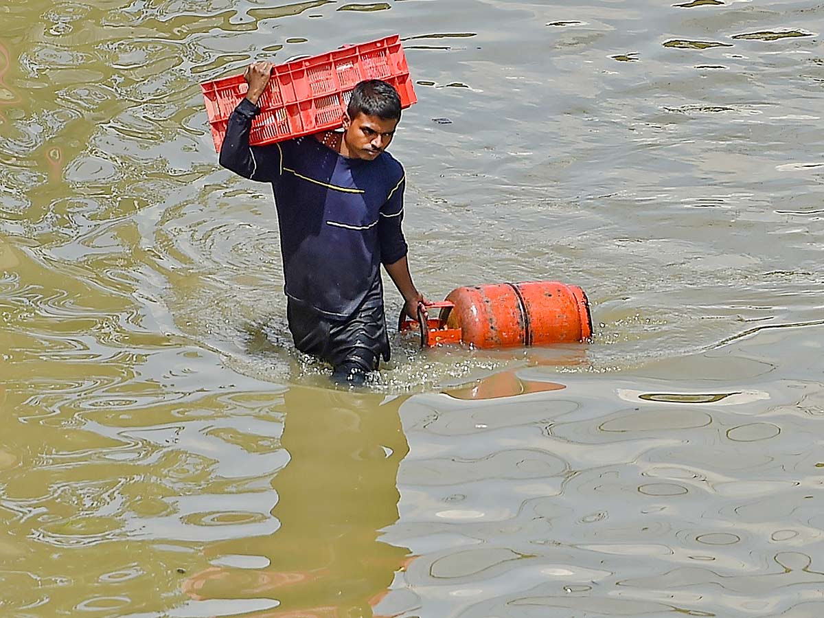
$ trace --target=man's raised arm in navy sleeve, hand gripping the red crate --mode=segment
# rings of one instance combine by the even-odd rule
[[[279,144],[250,146],[252,119],[260,114],[257,102],[269,83],[272,63],[252,63],[246,68],[249,91],[229,116],[226,135],[220,148],[220,164],[244,178],[271,182],[280,176],[283,151]]]

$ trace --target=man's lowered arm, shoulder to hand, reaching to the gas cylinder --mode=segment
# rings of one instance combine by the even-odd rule
[[[406,180],[401,178],[395,189],[386,199],[381,208],[380,220],[377,223],[377,237],[381,246],[381,261],[386,272],[389,273],[392,283],[395,283],[400,295],[404,297],[406,315],[413,320],[418,319],[418,304],[428,304],[418,288],[415,288],[410,274],[409,246],[406,245],[404,232],[400,223],[404,218],[404,190]]]

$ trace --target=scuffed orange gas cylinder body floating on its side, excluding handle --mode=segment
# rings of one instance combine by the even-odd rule
[[[558,281],[497,283],[456,288],[447,327],[475,348],[561,344],[592,336],[583,289]]]

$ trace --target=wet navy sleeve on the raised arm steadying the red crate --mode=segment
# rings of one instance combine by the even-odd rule
[[[220,164],[250,180],[272,182],[283,169],[283,150],[280,144],[250,146],[249,132],[252,119],[260,114],[260,107],[244,98],[229,116],[226,136],[220,148]]]

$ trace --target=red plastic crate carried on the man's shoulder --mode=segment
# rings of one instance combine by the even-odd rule
[[[338,129],[353,88],[364,79],[391,83],[400,95],[401,107],[418,101],[400,36],[347,45],[327,54],[276,65],[258,101],[260,115],[252,121],[249,143],[260,146]],[[229,116],[249,87],[242,75],[205,82],[200,87],[214,147],[220,152]]]

